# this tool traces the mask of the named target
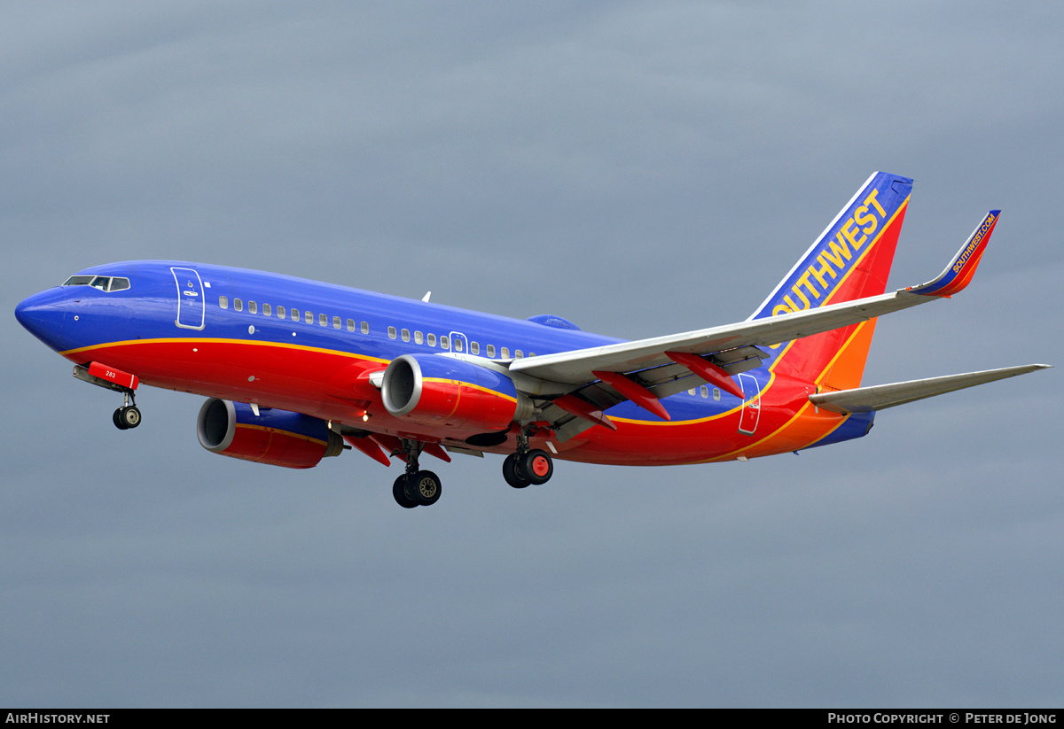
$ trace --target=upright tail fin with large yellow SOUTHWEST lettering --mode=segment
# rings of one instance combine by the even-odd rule
[[[883,293],[912,189],[909,177],[886,172],[868,177],[750,319]],[[768,366],[821,391],[855,388],[875,330],[872,319],[781,342],[770,347]]]

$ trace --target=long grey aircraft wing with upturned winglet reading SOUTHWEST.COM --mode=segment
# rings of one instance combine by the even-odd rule
[[[920,286],[708,329],[525,357],[511,362],[510,371],[554,383],[583,385],[602,379],[597,372],[631,373],[662,364],[675,364],[677,360],[666,353],[704,356],[727,350],[768,346],[947,298],[961,291],[971,279],[999,215],[1000,210],[991,210],[946,270],[934,281]],[[652,383],[644,383],[649,384]],[[664,393],[654,394],[664,396]]]

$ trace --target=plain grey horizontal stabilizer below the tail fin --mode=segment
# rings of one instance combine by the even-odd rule
[[[904,405],[925,397],[933,397],[954,390],[963,390],[966,387],[993,383],[995,379],[1015,377],[1027,374],[1035,370],[1044,370],[1051,364],[1023,364],[1020,367],[1007,367],[1000,370],[986,370],[984,372],[967,372],[960,375],[947,375],[945,377],[931,377],[930,379],[913,379],[908,383],[894,383],[892,385],[875,385],[872,387],[859,387],[854,390],[842,390],[839,392],[821,392],[810,395],[809,400],[817,407],[832,412],[871,412]]]

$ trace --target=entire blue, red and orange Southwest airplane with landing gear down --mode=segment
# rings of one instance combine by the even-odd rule
[[[162,260],[85,269],[15,315],[74,377],[122,393],[120,429],[140,424],[140,384],[206,396],[207,451],[294,469],[345,450],[395,458],[404,508],[440,496],[425,454],[505,455],[518,489],[547,482],[554,459],[743,461],[860,438],[878,410],[1049,367],[861,386],[877,317],[964,289],[1000,215],[936,278],[884,293],[912,184],[869,176],[747,320],[651,339]]]

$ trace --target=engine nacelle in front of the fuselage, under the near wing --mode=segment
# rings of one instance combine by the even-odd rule
[[[433,354],[393,359],[381,399],[396,418],[463,433],[502,430],[533,411],[505,374]]]

